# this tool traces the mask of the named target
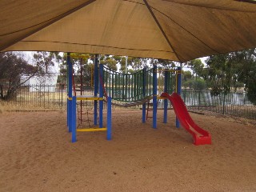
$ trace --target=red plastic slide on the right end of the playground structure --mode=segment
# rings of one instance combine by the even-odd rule
[[[195,124],[193,119],[190,117],[190,114],[186,110],[185,103],[178,94],[174,93],[170,95],[167,93],[162,93],[161,96],[170,100],[178,120],[181,122],[182,126],[190,134],[192,134],[194,138],[194,145],[198,146],[211,144],[210,134]]]

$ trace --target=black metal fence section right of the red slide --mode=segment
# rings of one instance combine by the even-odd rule
[[[242,118],[256,119],[256,95],[231,92],[211,96],[210,91],[182,90],[182,98],[189,110],[208,110]]]

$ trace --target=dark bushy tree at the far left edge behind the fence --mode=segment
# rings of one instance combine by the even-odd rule
[[[30,65],[22,54],[0,53],[0,98],[2,100],[14,98],[17,89],[37,74],[39,70],[39,66]],[[22,75],[28,76],[23,82],[21,82]]]

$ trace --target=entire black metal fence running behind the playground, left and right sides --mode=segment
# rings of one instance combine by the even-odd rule
[[[81,93],[81,90],[77,90]],[[84,89],[83,95],[93,95],[94,90]],[[66,109],[66,87],[61,85],[30,85],[22,86],[17,90],[16,96],[8,103],[21,108],[37,107],[42,109]],[[229,93],[211,96],[210,91],[182,90],[182,99],[189,110],[208,110],[215,113],[227,114],[243,118],[256,119],[256,95],[246,93]],[[254,99],[254,101],[252,101]],[[122,102],[118,102],[122,103]],[[139,108],[141,106],[133,106]],[[159,100],[158,107],[163,107]],[[169,103],[170,107],[170,103]],[[106,103],[104,102],[104,108]],[[113,108],[122,108],[113,106]]]

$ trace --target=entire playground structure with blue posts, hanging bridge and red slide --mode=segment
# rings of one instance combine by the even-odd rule
[[[98,65],[98,57],[94,62],[94,95],[72,96],[72,64],[68,55],[68,126],[72,132],[72,142],[76,142],[77,131],[99,131],[106,130],[107,139],[111,139],[111,106],[136,106],[142,105],[142,122],[148,118],[149,105],[152,100],[153,128],[157,128],[158,100],[164,102],[163,122],[167,122],[168,99],[174,107],[176,117],[176,127],[179,122],[192,134],[195,145],[210,144],[210,134],[197,126],[186,110],[186,106],[180,98],[181,94],[181,68],[173,69],[152,69],[138,70],[133,74],[122,74],[108,69],[102,64]],[[70,74],[71,73],[71,74]],[[74,89],[75,90],[75,89]],[[161,94],[163,93],[163,94]],[[169,94],[167,94],[169,93]],[[173,94],[174,93],[174,94]],[[170,96],[171,94],[171,96]],[[76,106],[77,101],[94,102],[94,125],[98,128],[77,128]],[[107,126],[102,125],[103,100],[107,102]],[[98,114],[99,113],[99,114]],[[192,127],[192,128],[190,128]]]

